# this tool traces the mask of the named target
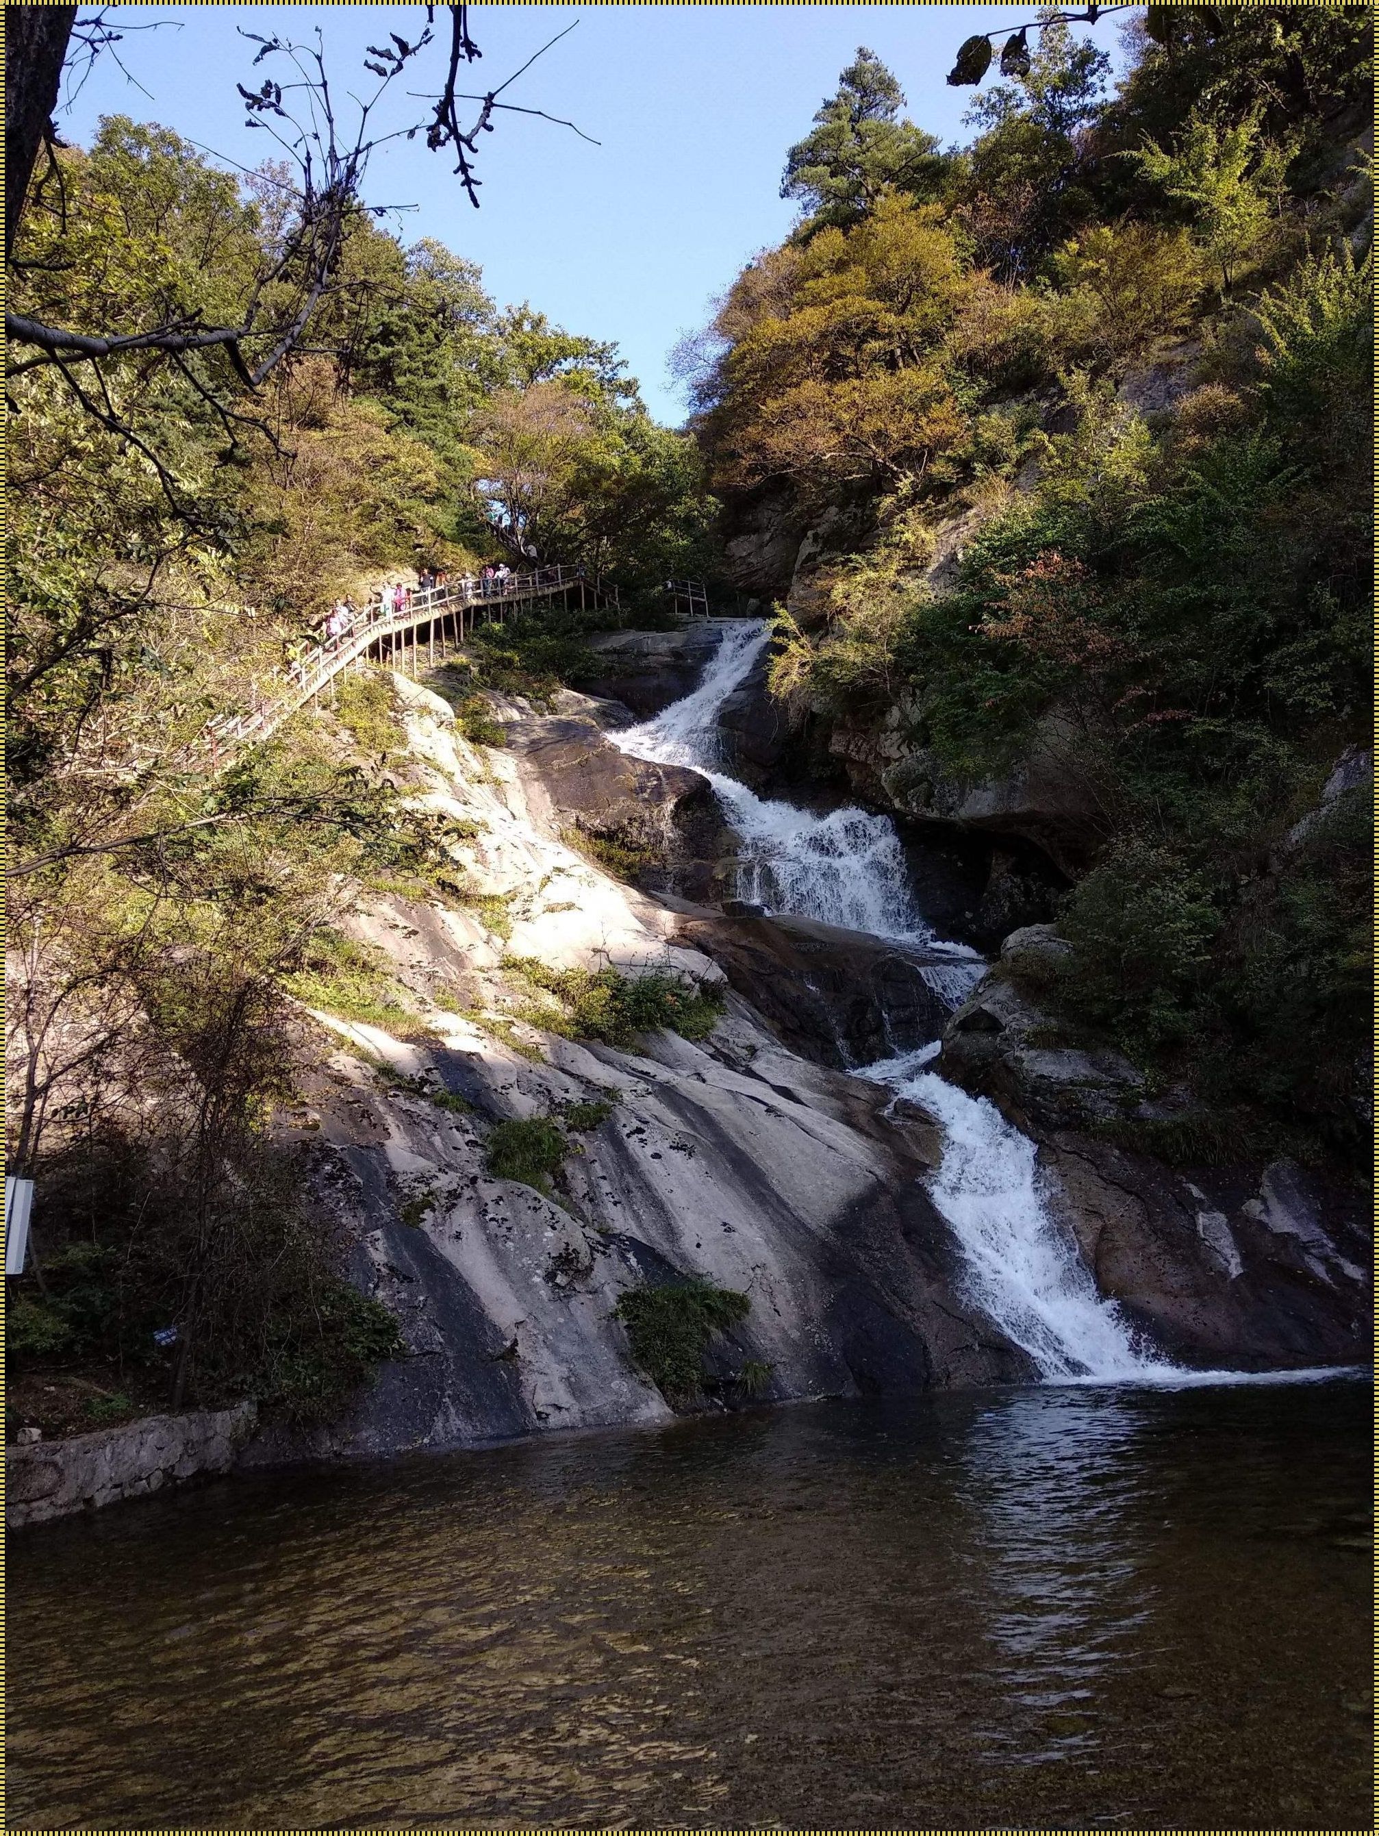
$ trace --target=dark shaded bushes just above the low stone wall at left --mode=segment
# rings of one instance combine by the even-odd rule
[[[261,1131],[222,1131],[226,1177],[207,1184],[167,1122],[163,1109],[151,1136],[103,1127],[48,1162],[44,1237],[59,1247],[48,1294],[24,1278],[11,1298],[13,1370],[103,1360],[138,1373],[140,1394],[162,1375],[174,1406],[250,1395],[290,1421],[329,1419],[400,1353],[397,1320],[331,1269],[329,1236]],[[178,1337],[160,1348],[169,1326]],[[97,1419],[123,1414],[97,1399]]]

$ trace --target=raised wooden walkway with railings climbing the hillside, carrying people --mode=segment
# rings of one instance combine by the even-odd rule
[[[580,608],[621,610],[617,588],[595,584],[582,567],[538,567],[534,573],[509,575],[501,582],[466,577],[444,586],[404,588],[400,606],[393,588],[376,588],[343,630],[323,637],[303,657],[275,670],[261,690],[255,688],[248,709],[219,714],[206,723],[204,744],[209,747],[211,766],[219,769],[239,747],[266,740],[290,714],[316,700],[342,670],[362,665],[375,650],[378,661],[415,676],[422,644],[433,666],[437,641],[444,657],[446,648],[463,644],[476,624],[490,624],[523,606],[553,599],[569,604],[575,595]]]

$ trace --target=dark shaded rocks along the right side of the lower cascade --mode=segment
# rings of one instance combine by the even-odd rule
[[[1010,936],[947,1021],[940,1074],[1039,1142],[1056,1212],[1096,1285],[1173,1357],[1361,1359],[1372,1247],[1359,1195],[1291,1160],[1168,1168],[1116,1146],[1135,1124],[1190,1120],[1192,1100],[1151,1096],[1129,1059],[1080,1045],[1039,1004],[1065,949],[1052,925]]]

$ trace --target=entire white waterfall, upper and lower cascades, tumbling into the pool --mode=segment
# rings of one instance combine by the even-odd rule
[[[982,973],[975,951],[938,940],[920,916],[894,824],[865,810],[815,815],[757,797],[723,764],[718,714],[768,641],[768,626],[727,628],[698,688],[656,720],[610,738],[637,758],[692,766],[712,784],[742,837],[738,890],[773,911],[951,953],[925,966],[929,986],[957,1006]],[[1296,1383],[1315,1371],[1186,1371],[1138,1342],[1115,1302],[1096,1293],[1072,1237],[1039,1190],[1034,1142],[993,1103],[968,1096],[925,1067],[938,1041],[854,1072],[920,1102],[944,1125],[944,1157],[931,1182],[953,1230],[973,1305],[1028,1351],[1047,1383],[1219,1384]]]

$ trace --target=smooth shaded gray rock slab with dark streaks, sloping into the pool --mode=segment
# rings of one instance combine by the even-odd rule
[[[547,1037],[540,1061],[461,1026],[426,1045],[340,1030],[367,1034],[391,1078],[356,1050],[307,1069],[303,1151],[353,1278],[398,1316],[408,1353],[329,1430],[268,1432],[252,1461],[665,1421],[615,1307],[630,1287],[690,1276],[751,1298],[716,1349],[725,1401],[742,1399],[747,1362],[769,1368],[775,1401],[1030,1373],[960,1298],[924,1188],[933,1124],[790,1054],[736,1001],[703,1045]],[[610,1114],[571,1135],[555,1188],[488,1171],[496,1122],[591,1100]]]

